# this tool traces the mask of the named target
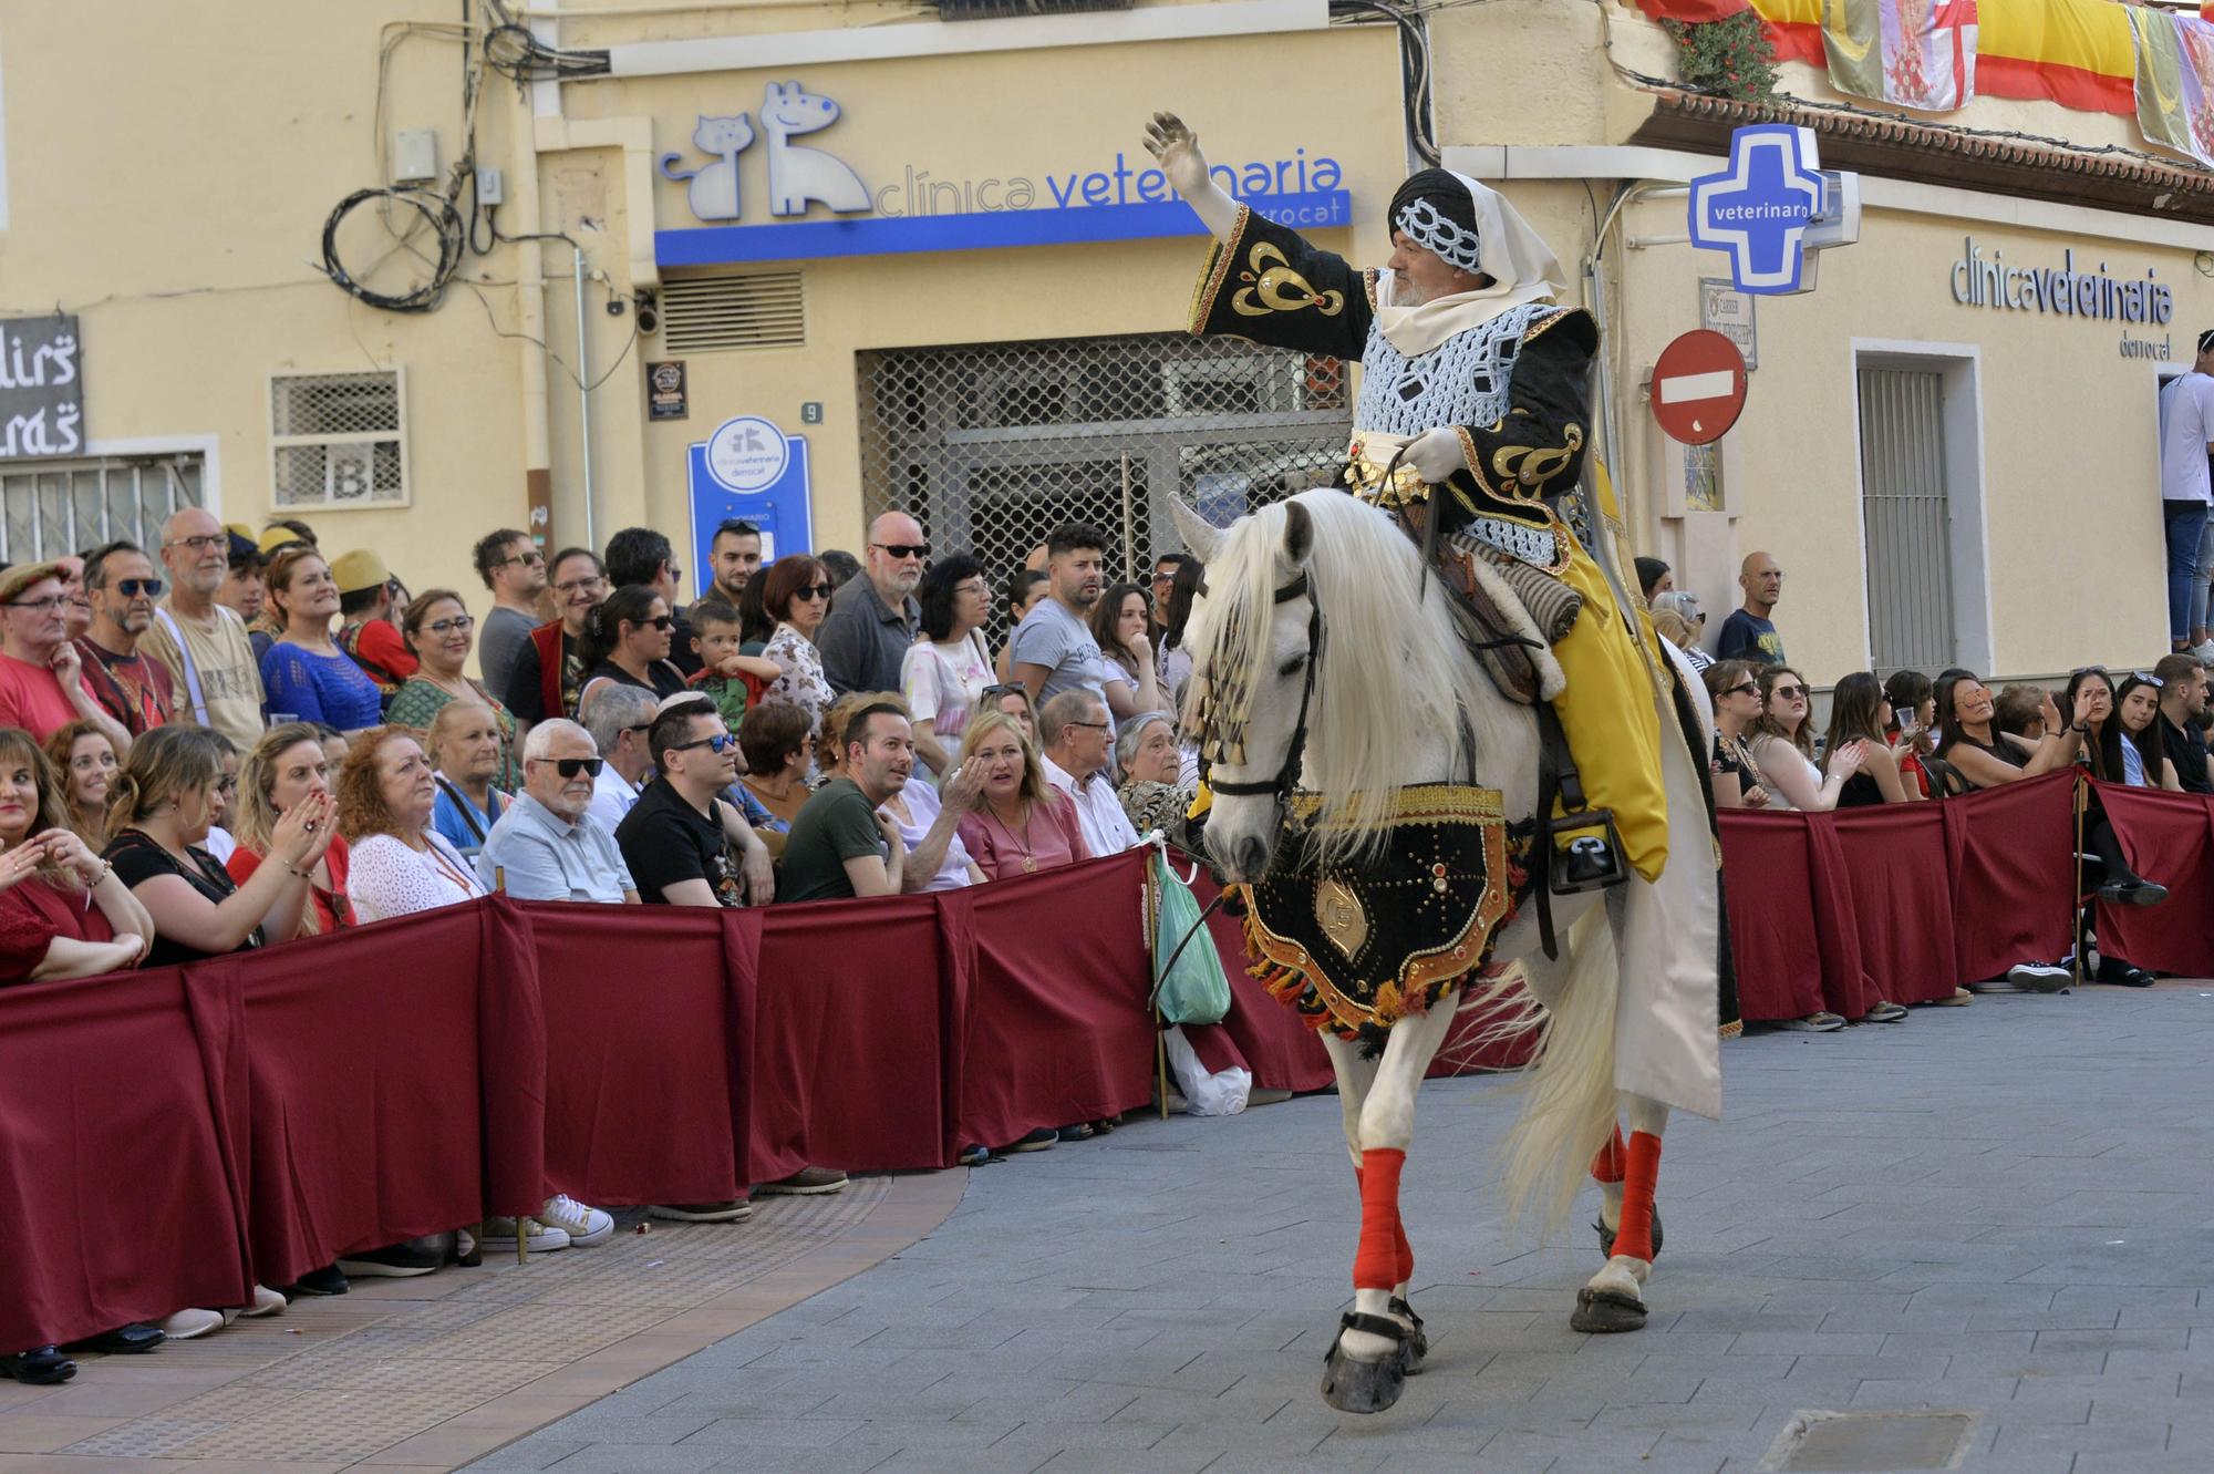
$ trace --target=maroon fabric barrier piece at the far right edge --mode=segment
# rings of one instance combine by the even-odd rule
[[[2214,976],[2214,799],[2092,783],[2130,868],[2168,887],[2161,905],[2099,903],[2099,952],[2154,972]]]

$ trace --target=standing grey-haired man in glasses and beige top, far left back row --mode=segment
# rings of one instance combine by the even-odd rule
[[[246,622],[215,602],[230,562],[228,542],[224,525],[204,507],[184,507],[162,525],[168,600],[155,611],[139,653],[168,666],[173,724],[210,726],[239,752],[250,752],[261,741],[261,657]]]

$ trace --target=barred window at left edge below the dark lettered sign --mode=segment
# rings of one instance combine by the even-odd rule
[[[0,469],[0,562],[42,562],[131,538],[153,551],[162,522],[204,505],[201,456],[108,456]]]

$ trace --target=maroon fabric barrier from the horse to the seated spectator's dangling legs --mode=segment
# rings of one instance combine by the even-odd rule
[[[2055,772],[1942,803],[1727,810],[1740,1014],[1860,1018],[1877,998],[1933,1003],[2066,954],[2072,783]]]

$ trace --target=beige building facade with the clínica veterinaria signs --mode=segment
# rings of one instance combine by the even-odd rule
[[[1711,624],[1767,549],[1824,686],[2159,653],[2154,392],[2214,323],[2214,235],[2154,204],[2159,166],[2090,181],[1931,120],[1871,142],[1809,115],[1862,179],[1860,239],[1818,290],[1753,303],[1745,414],[1685,451],[1652,363],[1716,314],[1742,330],[1742,301],[1703,286],[1727,263],[1687,243],[1683,186],[1756,115],[1667,89],[1634,9],[1444,9],[1419,62],[1322,0],[956,13],[598,0],[478,4],[463,31],[449,4],[241,0],[217,31],[151,0],[100,27],[0,2],[0,316],[22,341],[60,308],[80,372],[75,443],[0,458],[0,556],[204,500],[478,598],[467,549],[500,525],[565,547],[649,522],[693,549],[762,511],[779,549],[859,551],[903,507],[994,573],[1072,516],[1138,569],[1173,542],[1171,496],[1229,516],[1326,482],[1353,403],[1344,365],[1180,334],[1202,239],[1142,120],[1180,111],[1258,208],[1382,261],[1415,71],[1446,164],[1506,188],[1603,312],[1636,551]],[[1784,82],[1838,102],[1804,66]],[[2083,146],[2125,126],[1988,100],[1939,122]],[[461,193],[423,310],[323,274],[328,235],[370,292],[434,281],[432,195],[332,219],[410,175],[436,193],[463,157],[498,179]],[[2159,283],[2170,321],[2019,305],[2044,270]]]

